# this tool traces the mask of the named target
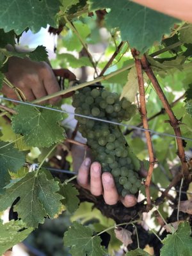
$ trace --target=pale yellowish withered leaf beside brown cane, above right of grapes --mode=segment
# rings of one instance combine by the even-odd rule
[[[144,74],[143,78],[147,81],[147,75]],[[122,94],[120,95],[120,100],[125,97],[130,102],[134,102],[136,93],[138,92],[138,76],[136,73],[136,68],[132,67],[127,76],[127,83],[125,84]]]

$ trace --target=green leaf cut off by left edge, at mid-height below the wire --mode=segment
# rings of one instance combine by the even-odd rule
[[[16,172],[25,163],[24,153],[13,148],[13,144],[0,141],[0,193],[10,180],[8,171]]]

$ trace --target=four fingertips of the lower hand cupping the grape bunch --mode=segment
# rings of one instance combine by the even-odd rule
[[[125,207],[132,207],[137,203],[137,198],[134,195],[126,195],[124,198],[118,195],[113,175],[109,172],[102,173],[100,163],[93,162],[91,164],[90,158],[84,159],[81,164],[77,182],[83,188],[90,190],[93,195],[103,195],[106,204],[114,205],[121,200]]]

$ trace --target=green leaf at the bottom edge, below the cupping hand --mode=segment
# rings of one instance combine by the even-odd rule
[[[65,232],[64,243],[69,246],[72,256],[103,256],[107,252],[100,245],[101,239],[93,236],[93,230],[74,221]]]

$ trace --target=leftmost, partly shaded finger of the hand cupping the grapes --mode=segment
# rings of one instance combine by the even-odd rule
[[[79,172],[77,175],[77,182],[79,183],[79,185],[81,185],[83,188],[86,188],[86,189],[90,189],[90,184],[89,184],[90,164],[91,164],[90,158],[84,159],[83,163],[79,168]]]

